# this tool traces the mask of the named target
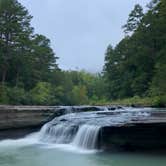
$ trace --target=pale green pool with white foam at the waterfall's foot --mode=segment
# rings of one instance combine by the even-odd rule
[[[166,156],[81,150],[25,138],[0,142],[0,166],[166,166]]]

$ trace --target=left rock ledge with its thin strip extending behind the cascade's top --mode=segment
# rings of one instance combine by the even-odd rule
[[[115,110],[100,106],[8,106],[0,105],[0,130],[40,127],[56,116],[71,112]]]

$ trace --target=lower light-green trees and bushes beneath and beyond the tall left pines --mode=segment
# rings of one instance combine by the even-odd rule
[[[52,71],[49,81],[38,81],[31,89],[23,82],[1,86],[1,104],[85,105],[105,103],[104,83],[100,74],[85,71]],[[24,85],[24,86],[23,86]],[[2,88],[3,87],[3,88]]]

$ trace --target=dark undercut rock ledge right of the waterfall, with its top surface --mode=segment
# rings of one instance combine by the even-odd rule
[[[100,137],[101,148],[166,151],[166,111],[145,113],[150,113],[150,115],[133,117],[124,124],[103,127]]]

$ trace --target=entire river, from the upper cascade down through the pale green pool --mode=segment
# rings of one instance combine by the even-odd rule
[[[110,114],[110,113],[109,113]],[[123,124],[149,112],[69,113],[24,138],[0,141],[0,166],[165,166],[165,153],[108,152],[97,148],[102,126]]]

